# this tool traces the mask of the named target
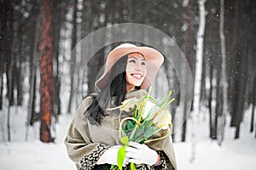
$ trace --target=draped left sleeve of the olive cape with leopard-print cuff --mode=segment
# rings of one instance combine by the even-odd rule
[[[110,147],[108,144],[91,142],[88,121],[84,116],[87,105],[88,99],[85,99],[68,127],[67,137],[64,141],[68,156],[81,170],[90,170],[95,167],[98,159]]]

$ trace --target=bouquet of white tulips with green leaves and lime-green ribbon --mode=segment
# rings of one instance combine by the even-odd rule
[[[120,109],[119,137],[124,146],[119,149],[117,157],[118,166],[113,165],[111,167],[113,170],[122,170],[123,162],[125,161],[125,148],[129,141],[145,144],[165,139],[172,133],[172,116],[170,111],[166,110],[166,107],[174,100],[174,98],[171,99],[172,90],[168,94],[156,100],[150,96],[151,89],[152,88],[150,87],[148,94],[143,96],[141,99],[126,99],[122,105],[117,107]],[[133,112],[133,117],[125,117],[121,120],[122,112],[128,110]],[[168,128],[169,125],[171,125],[171,128]],[[154,133],[158,133],[163,129],[169,129],[165,136],[158,139],[152,139]],[[131,163],[131,170],[136,170],[134,163]]]

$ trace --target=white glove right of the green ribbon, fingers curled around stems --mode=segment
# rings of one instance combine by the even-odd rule
[[[125,151],[125,156],[130,158],[129,162],[135,164],[143,163],[152,166],[158,160],[157,152],[148,148],[146,144],[138,144],[130,141]]]

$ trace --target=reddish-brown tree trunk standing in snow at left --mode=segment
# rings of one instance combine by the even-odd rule
[[[51,118],[53,116],[53,77],[52,77],[52,9],[49,0],[40,2],[40,140],[53,142],[51,137]]]

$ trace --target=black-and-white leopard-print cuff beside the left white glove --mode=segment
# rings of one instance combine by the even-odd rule
[[[99,144],[95,150],[82,158],[80,161],[81,167],[79,170],[91,170],[94,166],[96,166],[96,162],[102,156],[102,154],[108,150],[110,146],[107,144]]]

